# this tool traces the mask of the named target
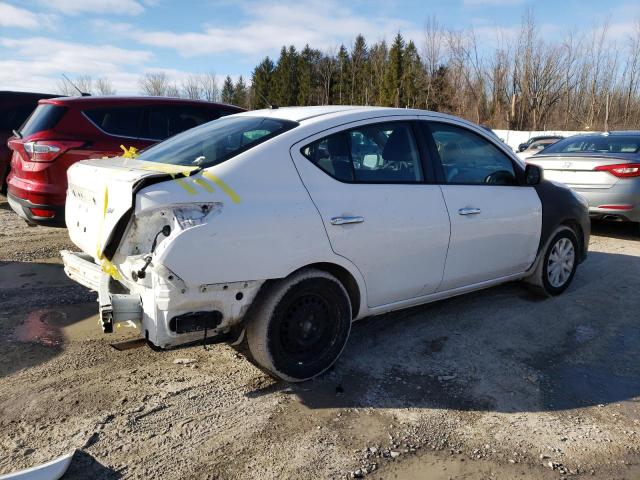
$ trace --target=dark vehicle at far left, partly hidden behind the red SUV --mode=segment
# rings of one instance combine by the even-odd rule
[[[35,110],[38,100],[56,96],[47,93],[0,92],[0,190],[2,193],[7,191],[7,176],[11,162],[11,150],[7,147],[7,140]]]

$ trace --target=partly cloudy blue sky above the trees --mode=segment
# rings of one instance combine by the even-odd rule
[[[55,91],[63,73],[107,77],[121,94],[138,93],[148,71],[177,84],[209,71],[247,77],[283,44],[330,51],[358,33],[374,42],[402,31],[420,49],[434,15],[447,29],[473,28],[490,48],[529,7],[548,39],[608,21],[622,45],[640,20],[637,0],[0,0],[0,90]]]

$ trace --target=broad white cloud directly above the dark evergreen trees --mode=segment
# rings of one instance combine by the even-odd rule
[[[365,18],[336,0],[297,3],[248,2],[246,20],[233,26],[205,26],[195,32],[132,31],[129,36],[154,47],[169,48],[185,57],[241,53],[253,58],[277,51],[282,45],[309,44],[331,49],[350,44],[361,33],[368,41],[390,39],[398,31],[406,38],[421,38],[413,24],[389,17]]]

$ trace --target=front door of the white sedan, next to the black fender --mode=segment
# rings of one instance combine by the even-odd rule
[[[514,161],[485,137],[462,125],[428,125],[451,219],[439,290],[524,272],[535,260],[542,229],[535,188],[518,185]]]

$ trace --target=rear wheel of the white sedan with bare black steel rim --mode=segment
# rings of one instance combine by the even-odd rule
[[[249,318],[247,345],[271,375],[301,382],[338,359],[351,331],[351,302],[333,275],[302,270],[265,292]]]

